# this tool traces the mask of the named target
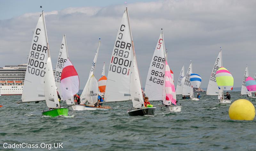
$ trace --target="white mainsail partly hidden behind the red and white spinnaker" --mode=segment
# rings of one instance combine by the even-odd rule
[[[68,60],[68,47],[67,47],[66,35],[64,35],[60,45],[60,51],[59,51],[59,56],[58,56],[55,75],[54,75],[55,84],[57,87],[57,91],[60,94],[61,100],[63,99],[62,99],[62,92],[60,88],[60,78],[61,78],[62,69],[64,67],[64,63],[67,60]]]

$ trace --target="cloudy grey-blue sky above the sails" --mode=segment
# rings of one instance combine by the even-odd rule
[[[126,2],[126,3],[125,3]],[[99,79],[103,62],[108,73],[111,53],[125,7],[128,7],[138,68],[145,87],[148,68],[161,28],[174,84],[182,66],[207,87],[222,47],[223,66],[241,87],[246,65],[256,73],[256,1],[4,1],[0,0],[0,67],[27,63],[32,31],[42,11],[53,68],[61,40],[67,37],[69,58],[83,89],[101,38],[95,69]]]

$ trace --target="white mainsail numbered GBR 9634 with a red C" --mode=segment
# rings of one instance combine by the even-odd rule
[[[162,100],[165,73],[165,52],[163,32],[156,44],[154,55],[148,69],[145,94],[149,100]]]

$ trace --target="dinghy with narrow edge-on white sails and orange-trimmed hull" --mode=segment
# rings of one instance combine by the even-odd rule
[[[96,51],[95,57],[92,62],[92,68],[89,74],[89,78],[87,80],[87,83],[85,84],[84,90],[81,94],[81,103],[80,105],[74,105],[71,106],[73,110],[76,110],[79,106],[79,110],[108,110],[111,109],[111,107],[107,106],[101,106],[101,107],[95,107],[94,105],[98,101],[98,81],[94,76],[94,70],[96,67],[97,57],[100,49],[100,41],[98,45],[98,49]],[[87,104],[85,104],[87,103]],[[76,107],[75,107],[76,106]]]

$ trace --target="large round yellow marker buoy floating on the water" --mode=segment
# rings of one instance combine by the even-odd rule
[[[230,105],[228,115],[231,120],[251,121],[255,117],[255,107],[246,99],[238,99]]]

